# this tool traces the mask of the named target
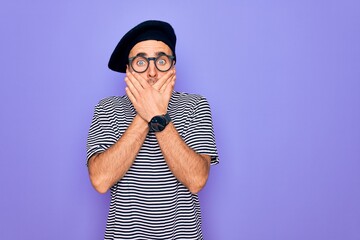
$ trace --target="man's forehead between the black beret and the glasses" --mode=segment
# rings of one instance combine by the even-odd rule
[[[170,55],[171,49],[162,41],[146,40],[135,44],[135,46],[130,50],[129,57],[135,56],[138,53],[145,53],[148,56],[155,56],[159,52],[164,52]]]

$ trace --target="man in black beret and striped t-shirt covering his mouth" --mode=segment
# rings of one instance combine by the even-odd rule
[[[126,95],[99,102],[87,142],[91,183],[111,189],[105,239],[202,239],[197,193],[219,160],[207,100],[174,91],[175,45],[145,21],[111,55]]]

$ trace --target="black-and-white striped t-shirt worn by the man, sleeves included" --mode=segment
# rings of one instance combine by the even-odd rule
[[[219,162],[207,100],[173,92],[168,113],[184,142],[199,154]],[[87,159],[116,143],[133,118],[127,96],[103,99],[95,113],[87,141]],[[169,170],[155,133],[146,136],[133,165],[111,187],[105,239],[202,239],[198,196]]]

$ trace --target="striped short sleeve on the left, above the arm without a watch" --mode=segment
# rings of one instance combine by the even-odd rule
[[[114,130],[109,122],[109,116],[104,112],[101,104],[98,104],[94,110],[94,116],[87,138],[87,162],[95,153],[104,152],[116,143],[116,139]]]

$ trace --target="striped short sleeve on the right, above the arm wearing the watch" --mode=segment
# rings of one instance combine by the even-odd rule
[[[219,163],[211,110],[206,98],[200,97],[196,102],[183,139],[198,154],[211,156],[211,165]]]

